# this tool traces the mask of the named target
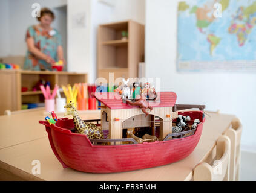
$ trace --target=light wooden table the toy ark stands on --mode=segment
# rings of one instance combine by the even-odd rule
[[[42,109],[0,116],[0,180],[191,180],[192,171],[208,157],[218,136],[231,125],[234,115],[206,112],[199,144],[192,154],[176,163],[156,168],[113,174],[90,174],[63,169],[54,156],[43,125]],[[83,119],[99,119],[100,112],[89,112]],[[185,148],[185,147],[184,147]],[[33,160],[41,163],[41,174],[32,174]]]

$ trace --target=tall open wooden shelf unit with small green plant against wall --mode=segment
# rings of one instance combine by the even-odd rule
[[[128,39],[122,40],[122,31],[128,31]],[[97,77],[108,81],[111,72],[114,80],[138,77],[138,65],[144,57],[144,31],[144,25],[131,20],[99,25]]]

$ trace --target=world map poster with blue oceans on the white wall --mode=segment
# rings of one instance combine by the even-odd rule
[[[177,71],[256,72],[256,1],[181,1]]]

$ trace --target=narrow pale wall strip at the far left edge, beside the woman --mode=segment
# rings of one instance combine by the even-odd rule
[[[8,0],[0,1],[0,56],[6,57],[10,52],[10,27],[8,22],[9,4]]]

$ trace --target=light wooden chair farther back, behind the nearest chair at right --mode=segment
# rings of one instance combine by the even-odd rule
[[[231,127],[225,132],[225,135],[231,141],[231,155],[230,155],[230,175],[229,180],[239,180],[240,179],[240,141],[242,133],[242,125],[240,119],[235,118],[231,122]]]

